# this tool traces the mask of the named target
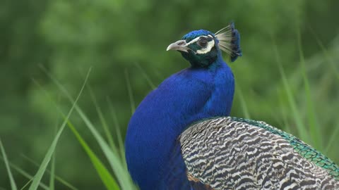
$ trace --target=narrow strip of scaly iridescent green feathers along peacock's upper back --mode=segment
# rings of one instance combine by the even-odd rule
[[[307,160],[315,163],[319,167],[327,170],[330,175],[339,179],[339,166],[333,163],[333,161],[326,156],[324,156],[321,152],[316,151],[316,149],[312,148],[308,144],[305,144],[303,141],[298,139],[297,137],[293,136],[292,134],[288,134],[287,132],[283,132],[280,129],[277,129],[273,126],[266,124],[266,122],[254,121],[254,120],[246,120],[243,118],[232,118],[232,120],[237,122],[246,122],[249,125],[254,125],[256,127],[261,127],[263,129],[272,132],[273,134],[277,134],[283,139],[287,140],[295,151],[299,153],[302,157],[306,158]]]

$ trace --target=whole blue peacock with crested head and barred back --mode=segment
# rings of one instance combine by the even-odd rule
[[[189,61],[136,108],[126,163],[141,190],[339,189],[339,167],[266,122],[230,116],[234,75],[222,59],[242,56],[230,23],[170,44]]]

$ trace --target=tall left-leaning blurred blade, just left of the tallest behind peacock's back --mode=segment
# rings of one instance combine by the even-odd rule
[[[297,103],[295,103],[295,99],[293,98],[292,88],[290,87],[290,84],[287,81],[287,77],[285,75],[285,70],[283,69],[283,65],[281,64],[281,61],[280,61],[280,56],[279,56],[279,53],[278,53],[278,47],[277,47],[274,39],[273,39],[273,51],[275,53],[275,59],[276,59],[277,64],[278,64],[280,75],[283,79],[283,86],[284,86],[286,94],[287,94],[287,100],[288,100],[288,103],[290,104],[290,108],[292,110],[293,117],[295,118],[295,123],[297,125],[297,131],[299,133],[300,138],[303,141],[309,142],[309,135],[307,135],[307,130],[304,127],[304,123],[302,122],[302,116],[300,115],[299,111],[297,110]]]

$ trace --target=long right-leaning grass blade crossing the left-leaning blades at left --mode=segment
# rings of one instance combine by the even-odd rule
[[[73,112],[73,109],[75,108],[76,103],[78,102],[78,99],[81,96],[81,93],[83,92],[83,89],[85,88],[85,84],[86,84],[86,82],[88,80],[88,76],[90,75],[90,70],[91,70],[91,68],[88,70],[88,73],[86,75],[85,81],[83,83],[83,87],[81,87],[81,90],[80,90],[78,96],[76,97],[76,100],[73,101],[73,106],[71,107],[71,110],[69,110],[69,113],[67,114],[66,119],[62,123],[62,125],[61,125],[61,127],[60,127],[60,129],[59,129],[59,131],[57,133],[57,136],[54,137],[52,145],[49,147],[49,149],[47,151],[47,154],[44,157],[44,160],[42,160],[42,163],[41,163],[41,165],[39,167],[39,170],[37,170],[37,173],[36,173],[36,175],[35,175],[35,177],[34,177],[34,179],[32,181],[32,184],[30,185],[29,190],[36,190],[37,187],[39,186],[40,181],[42,179],[42,176],[44,175],[44,171],[46,170],[47,165],[48,165],[49,161],[52,158],[52,154],[54,153],[54,150],[57,147],[57,142],[59,141],[59,137],[61,136],[61,133],[63,132],[63,130],[64,130],[66,124],[67,124],[67,121],[69,120],[69,117],[71,116],[71,113]]]

